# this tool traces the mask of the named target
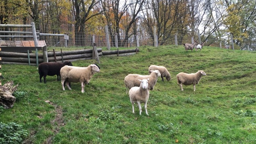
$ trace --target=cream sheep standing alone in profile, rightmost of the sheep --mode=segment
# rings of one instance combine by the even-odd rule
[[[179,73],[176,77],[177,77],[177,82],[178,84],[181,86],[181,91],[183,91],[183,87],[182,84],[184,85],[194,85],[194,91],[196,91],[196,84],[199,83],[200,79],[202,78],[202,76],[205,76],[206,73],[202,70],[199,70],[196,73],[192,73],[192,74],[187,74],[187,73]]]

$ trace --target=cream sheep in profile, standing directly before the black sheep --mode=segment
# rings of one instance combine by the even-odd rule
[[[61,85],[62,89],[65,90],[64,82],[71,90],[69,82],[80,82],[84,93],[85,84],[88,84],[95,73],[98,73],[99,67],[96,64],[91,64],[88,67],[77,67],[77,66],[64,66],[60,69]]]

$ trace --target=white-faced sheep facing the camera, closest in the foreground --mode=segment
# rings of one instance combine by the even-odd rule
[[[143,79],[143,80],[139,80],[139,81],[140,81],[139,87],[135,86],[129,90],[129,97],[130,97],[130,101],[133,106],[133,114],[134,114],[134,103],[138,103],[138,105],[139,105],[139,115],[141,115],[141,111],[142,111],[140,103],[144,103],[146,115],[148,115],[147,102],[148,102],[148,98],[149,98],[149,89],[148,89],[149,79],[147,79],[147,80]]]

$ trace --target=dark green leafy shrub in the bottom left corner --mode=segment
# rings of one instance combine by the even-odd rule
[[[0,144],[19,144],[27,135],[28,131],[22,129],[22,125],[0,123]]]

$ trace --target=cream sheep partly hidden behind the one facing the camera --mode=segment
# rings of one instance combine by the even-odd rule
[[[150,90],[154,89],[154,86],[157,83],[157,79],[158,77],[160,77],[161,74],[159,72],[159,70],[151,70],[151,74],[150,75],[138,75],[138,74],[129,74],[124,78],[124,84],[126,87],[126,94],[128,89],[131,89],[134,86],[139,86],[140,82],[138,81],[138,79],[148,79],[149,78],[149,86],[148,88]]]

